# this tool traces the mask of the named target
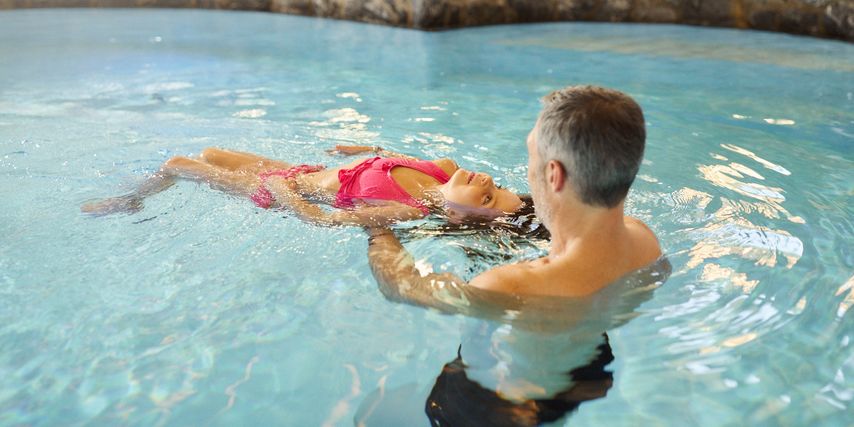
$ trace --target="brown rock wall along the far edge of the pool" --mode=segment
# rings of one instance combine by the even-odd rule
[[[854,0],[0,0],[0,9],[38,7],[256,10],[422,30],[517,22],[655,22],[854,41]]]

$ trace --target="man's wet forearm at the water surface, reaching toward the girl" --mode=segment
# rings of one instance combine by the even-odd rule
[[[387,228],[369,228],[368,261],[380,291],[392,301],[459,313],[469,309],[466,286],[451,273],[421,275],[412,255]]]

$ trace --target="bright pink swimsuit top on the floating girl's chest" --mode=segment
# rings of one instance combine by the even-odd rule
[[[414,169],[441,184],[450,179],[448,174],[433,162],[374,157],[359,163],[352,169],[338,171],[341,188],[335,197],[335,206],[353,207],[354,200],[386,200],[418,208],[425,215],[430,213],[427,206],[412,197],[392,178],[391,170],[398,166]]]

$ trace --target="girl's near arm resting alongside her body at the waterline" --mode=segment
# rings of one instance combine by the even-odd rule
[[[387,226],[398,221],[410,221],[424,217],[417,208],[403,203],[390,202],[384,206],[367,206],[356,209],[339,209],[332,212],[305,200],[291,185],[291,191],[277,194],[279,202],[292,210],[303,221],[319,225],[359,225],[365,227]]]

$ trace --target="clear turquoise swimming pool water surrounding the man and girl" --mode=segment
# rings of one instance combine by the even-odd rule
[[[79,206],[206,146],[311,163],[334,161],[335,143],[379,144],[527,191],[538,97],[577,83],[643,106],[627,209],[673,273],[608,330],[607,396],[560,423],[850,422],[850,44],[187,10],[2,12],[0,34],[0,425],[352,425],[376,402],[427,425],[426,393],[460,344],[488,353],[513,328],[386,301],[358,229],[190,183],[134,215]],[[466,256],[472,244],[485,255]],[[468,276],[542,248],[407,245]],[[588,357],[572,339],[557,344],[567,359]]]

